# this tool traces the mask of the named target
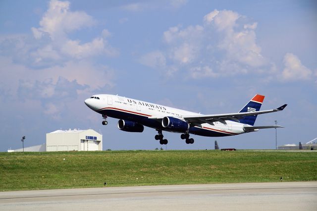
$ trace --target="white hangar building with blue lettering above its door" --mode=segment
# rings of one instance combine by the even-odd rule
[[[46,134],[46,151],[102,151],[103,135],[92,129],[56,130]]]

